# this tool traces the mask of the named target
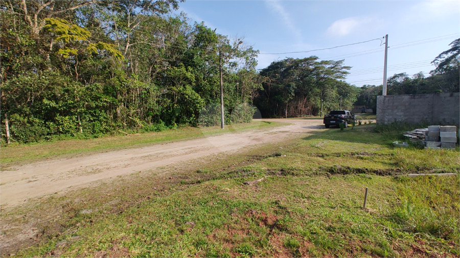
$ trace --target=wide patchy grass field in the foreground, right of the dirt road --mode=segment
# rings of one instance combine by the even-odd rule
[[[458,147],[394,148],[399,132],[378,131],[323,129],[144,171],[2,221],[36,228],[13,256],[458,257]],[[399,176],[428,172],[456,175]]]

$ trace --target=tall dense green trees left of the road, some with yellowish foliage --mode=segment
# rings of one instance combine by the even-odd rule
[[[172,15],[177,0],[0,4],[1,115],[15,141],[197,125],[217,111],[219,56],[227,122],[252,117],[257,51]]]

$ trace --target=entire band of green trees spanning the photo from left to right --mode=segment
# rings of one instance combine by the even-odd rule
[[[258,50],[173,15],[181,0],[0,0],[0,115],[11,139],[149,132],[320,115],[375,105],[381,86],[343,81],[350,67],[317,57],[286,58],[257,72]],[[388,94],[458,91],[460,39],[431,76],[395,74]]]

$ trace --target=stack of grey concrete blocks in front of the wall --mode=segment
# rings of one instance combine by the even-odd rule
[[[427,148],[455,148],[457,142],[456,126],[430,125],[426,132],[425,140]]]

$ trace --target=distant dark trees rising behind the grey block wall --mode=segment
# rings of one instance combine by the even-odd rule
[[[460,38],[449,44],[451,47],[443,51],[432,63],[436,68],[425,77],[423,72],[410,77],[407,73],[394,74],[387,80],[387,94],[427,94],[460,91]],[[363,85],[355,105],[365,105],[374,112],[377,107],[377,96],[382,95],[382,85]]]

